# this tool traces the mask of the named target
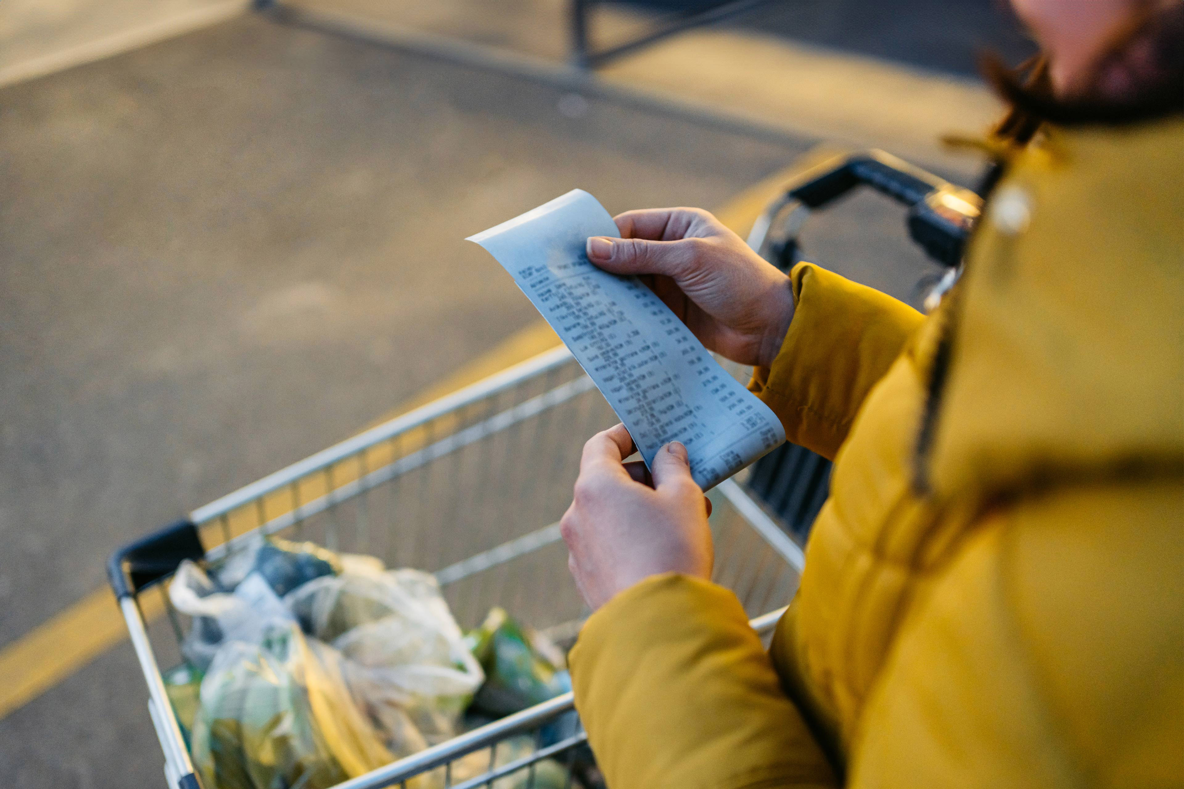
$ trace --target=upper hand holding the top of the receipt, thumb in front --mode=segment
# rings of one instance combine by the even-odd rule
[[[708,349],[773,363],[793,317],[789,277],[700,208],[628,211],[614,221],[620,238],[590,238],[588,260],[641,277]]]

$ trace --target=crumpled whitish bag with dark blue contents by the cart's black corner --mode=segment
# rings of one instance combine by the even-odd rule
[[[194,617],[181,654],[204,671],[224,642],[258,644],[268,625],[292,621],[282,595],[341,569],[341,558],[332,551],[278,537],[257,538],[208,573],[181,562],[168,588],[173,606]]]

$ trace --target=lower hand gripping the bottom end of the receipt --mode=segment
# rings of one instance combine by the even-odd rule
[[[652,487],[643,464],[624,463],[632,452],[624,425],[593,435],[559,522],[567,565],[593,610],[652,575],[712,577],[710,502],[690,477],[687,448],[673,442],[658,451]]]

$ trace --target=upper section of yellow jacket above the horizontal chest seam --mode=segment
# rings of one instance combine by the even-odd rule
[[[1054,128],[1017,154],[945,316],[931,493],[1179,474],[1182,296],[1184,122]]]

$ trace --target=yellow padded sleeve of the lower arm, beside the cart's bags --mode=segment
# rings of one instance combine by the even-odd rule
[[[575,706],[612,789],[836,785],[735,595],[648,578],[584,626]]]

